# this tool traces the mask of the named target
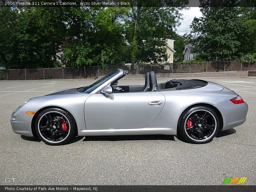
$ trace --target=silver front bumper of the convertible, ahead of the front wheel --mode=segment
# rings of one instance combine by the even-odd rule
[[[31,122],[33,116],[34,115],[26,115],[25,112],[16,109],[12,113],[12,117],[16,117],[16,119],[12,121],[11,118],[12,131],[20,135],[33,137],[31,130]]]

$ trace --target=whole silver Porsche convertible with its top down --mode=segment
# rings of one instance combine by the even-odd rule
[[[27,100],[12,113],[12,130],[62,145],[75,136],[181,135],[190,143],[210,142],[217,132],[246,120],[248,105],[234,91],[203,80],[118,85],[118,69],[95,83]]]

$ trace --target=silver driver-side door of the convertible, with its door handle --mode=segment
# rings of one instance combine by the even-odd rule
[[[86,129],[145,128],[155,121],[164,103],[164,95],[156,91],[93,94],[84,104]]]

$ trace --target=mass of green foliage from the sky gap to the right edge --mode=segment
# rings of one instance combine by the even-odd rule
[[[194,18],[190,26],[190,41],[192,51],[203,60],[235,60],[256,52],[255,8],[202,7],[200,11],[203,16]]]

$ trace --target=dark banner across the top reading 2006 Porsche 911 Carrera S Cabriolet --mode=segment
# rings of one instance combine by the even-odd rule
[[[0,7],[256,7],[255,0],[0,0]]]

